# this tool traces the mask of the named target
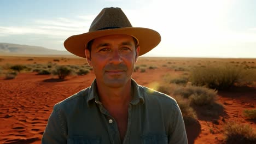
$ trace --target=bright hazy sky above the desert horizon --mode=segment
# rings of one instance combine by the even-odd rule
[[[105,7],[161,34],[143,56],[256,58],[254,0],[0,0],[0,43],[65,50],[63,42],[88,32]]]

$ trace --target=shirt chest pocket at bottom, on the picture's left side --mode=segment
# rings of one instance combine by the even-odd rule
[[[94,137],[92,139],[88,139],[85,137],[69,137],[67,139],[68,144],[99,144],[101,143],[100,137]]]

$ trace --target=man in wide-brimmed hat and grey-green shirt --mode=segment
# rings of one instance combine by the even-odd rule
[[[160,39],[120,8],[104,8],[88,33],[69,37],[66,49],[86,58],[96,79],[54,106],[42,143],[188,143],[176,101],[131,79],[138,56]]]

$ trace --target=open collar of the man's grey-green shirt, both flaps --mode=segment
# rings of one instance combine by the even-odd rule
[[[139,91],[139,85],[135,82],[135,80],[131,80],[132,87],[132,100],[130,104],[137,105],[138,103],[144,104],[143,94]],[[101,104],[100,99],[98,98],[98,90],[96,79],[92,82],[89,87],[88,98],[86,100],[87,105],[89,106],[93,101],[97,104]]]

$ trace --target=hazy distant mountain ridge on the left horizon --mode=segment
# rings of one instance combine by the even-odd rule
[[[68,51],[46,49],[40,46],[0,43],[0,53],[22,55],[71,55]]]

